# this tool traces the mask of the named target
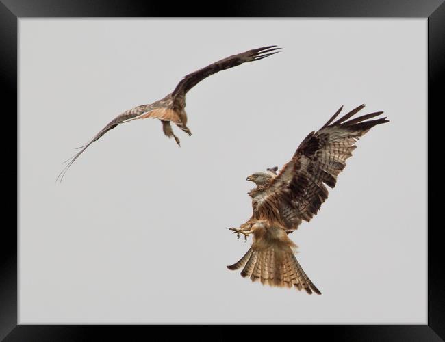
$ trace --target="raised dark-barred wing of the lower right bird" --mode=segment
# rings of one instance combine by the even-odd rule
[[[292,222],[294,229],[301,220],[309,222],[328,197],[325,185],[335,187],[346,159],[356,148],[355,142],[376,124],[388,122],[386,118],[368,120],[383,111],[347,121],[363,107],[360,105],[333,122],[341,107],[319,131],[309,133],[272,181],[259,205],[278,207],[283,221]]]

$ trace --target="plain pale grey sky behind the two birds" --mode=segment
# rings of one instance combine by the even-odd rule
[[[424,324],[425,19],[19,22],[19,319],[36,323]],[[190,90],[193,135],[123,124],[183,75],[283,52]],[[359,142],[318,215],[291,235],[322,295],[226,269],[249,248],[249,174],[289,161],[341,106],[390,120]]]

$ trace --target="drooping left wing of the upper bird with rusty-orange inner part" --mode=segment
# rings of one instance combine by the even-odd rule
[[[79,156],[84,153],[84,150],[88,148],[93,142],[96,140],[99,140],[107,131],[111,131],[114,129],[118,124],[123,124],[124,122],[129,122],[131,120],[136,120],[140,118],[158,118],[160,120],[165,121],[177,121],[177,115],[174,111],[170,109],[166,109],[160,106],[155,105],[140,105],[138,107],[134,107],[132,109],[129,109],[127,111],[124,111],[123,114],[120,114],[119,116],[116,116],[111,122],[109,122],[99,133],[94,135],[92,140],[90,140],[87,144],[84,146],[80,146],[77,149],[80,149],[78,153],[73,155],[70,159],[65,161],[66,166],[63,168],[63,170],[58,175],[57,179],[55,181],[62,182],[62,179],[64,178],[66,171],[68,171],[68,168],[70,168],[71,165],[75,162]]]

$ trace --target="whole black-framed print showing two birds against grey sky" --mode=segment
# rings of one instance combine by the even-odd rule
[[[16,171],[17,225],[4,229],[1,338],[286,324],[342,341],[441,341],[427,163],[440,136],[428,122],[439,110],[443,3],[191,11],[1,4],[3,95],[17,112],[16,169],[3,170]],[[321,167],[339,139],[357,150],[345,162],[353,148],[342,145]],[[255,213],[246,177],[263,191],[262,175],[279,184],[291,166],[301,171],[286,189],[300,197],[283,201],[306,201],[301,216],[282,204]],[[255,254],[259,235],[243,241],[256,233],[240,224],[258,227],[271,210],[293,227],[281,237],[296,244],[283,263],[295,265],[292,289],[268,286],[285,285],[285,274],[267,276],[281,254]],[[264,286],[249,280],[257,260]]]

